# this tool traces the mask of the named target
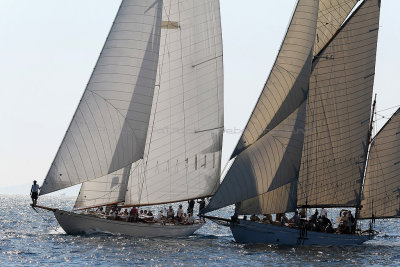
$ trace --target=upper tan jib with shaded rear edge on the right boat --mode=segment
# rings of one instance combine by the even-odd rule
[[[275,128],[305,99],[318,4],[314,0],[298,1],[275,64],[231,158]]]

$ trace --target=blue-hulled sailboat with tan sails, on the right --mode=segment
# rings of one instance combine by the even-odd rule
[[[265,87],[205,212],[241,243],[352,245],[374,237],[239,219],[298,208],[400,217],[400,114],[371,142],[378,0],[299,0]],[[290,226],[290,225],[289,225]]]

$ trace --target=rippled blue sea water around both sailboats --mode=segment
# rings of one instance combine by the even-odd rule
[[[181,239],[120,235],[70,236],[50,212],[36,213],[29,196],[0,195],[0,266],[400,266],[400,220],[377,222],[381,233],[361,246],[277,247],[234,242],[212,222]],[[74,199],[39,203],[70,210]],[[229,209],[214,215],[229,217]]]

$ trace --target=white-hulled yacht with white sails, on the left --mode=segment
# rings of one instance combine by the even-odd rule
[[[75,209],[213,195],[221,165],[222,56],[219,1],[123,0],[40,195],[82,183]],[[178,237],[203,225],[46,209],[68,234]]]

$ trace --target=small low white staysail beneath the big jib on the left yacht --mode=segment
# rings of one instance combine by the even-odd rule
[[[131,166],[106,176],[84,182],[75,202],[75,209],[111,205],[125,201]]]

